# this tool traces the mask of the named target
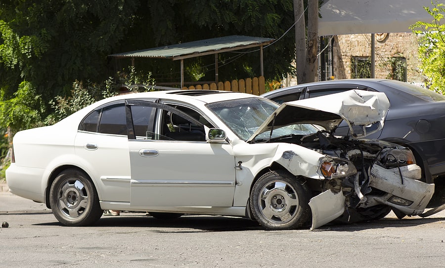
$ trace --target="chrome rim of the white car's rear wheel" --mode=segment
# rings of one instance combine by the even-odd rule
[[[88,205],[87,188],[76,178],[65,180],[57,193],[57,205],[65,216],[80,217]]]

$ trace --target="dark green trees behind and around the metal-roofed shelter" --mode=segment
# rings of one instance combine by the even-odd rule
[[[101,83],[131,65],[107,55],[229,35],[276,38],[264,49],[264,66],[267,80],[280,79],[295,74],[295,36],[285,34],[293,23],[291,0],[2,0],[0,106],[15,111],[21,103],[40,124],[54,114],[54,103],[70,98],[75,81]],[[219,54],[220,80],[258,76],[255,50]],[[186,79],[214,80],[214,60],[187,59]],[[178,62],[170,60],[138,60],[136,67],[157,81],[180,77]],[[22,83],[32,90],[16,94]],[[36,96],[38,108],[27,102]],[[0,120],[0,128],[12,122],[16,130],[31,127],[23,119]]]

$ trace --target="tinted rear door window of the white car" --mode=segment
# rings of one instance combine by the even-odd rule
[[[104,108],[99,122],[99,133],[127,135],[127,121],[123,104]]]

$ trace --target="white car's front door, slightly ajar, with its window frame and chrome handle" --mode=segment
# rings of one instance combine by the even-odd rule
[[[187,125],[185,122],[187,118],[180,120],[180,126],[175,124],[172,118],[184,113],[174,107],[151,102],[130,102],[127,104],[127,113],[131,113],[132,109],[136,110],[135,105],[154,106],[158,113],[156,124],[168,123],[169,126],[148,127],[145,137],[131,135],[129,131],[132,176],[130,205],[133,207],[232,206],[235,161],[231,146],[211,144],[205,139],[196,138],[194,133],[200,128],[204,131],[204,127],[199,121],[193,121],[190,115],[185,117],[193,121],[189,122],[192,125]],[[134,115],[127,118],[137,120]],[[132,127],[135,126],[128,126],[130,130]],[[177,133],[169,135],[163,133],[162,129],[166,131],[170,129],[173,132],[176,129]],[[193,129],[193,133],[184,129]],[[169,136],[171,138],[168,138]]]

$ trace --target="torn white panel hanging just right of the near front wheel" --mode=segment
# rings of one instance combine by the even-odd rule
[[[312,210],[311,230],[314,230],[343,214],[345,211],[345,196],[341,192],[333,193],[327,190],[312,197],[309,206]]]

